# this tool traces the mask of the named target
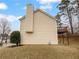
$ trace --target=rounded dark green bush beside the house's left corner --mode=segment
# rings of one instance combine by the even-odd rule
[[[14,31],[11,33],[10,42],[15,43],[17,46],[20,45],[21,36],[19,31]]]

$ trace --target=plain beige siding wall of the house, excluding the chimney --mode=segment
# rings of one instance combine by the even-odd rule
[[[40,11],[34,13],[34,32],[26,32],[26,21],[21,21],[22,44],[58,44],[56,20]]]

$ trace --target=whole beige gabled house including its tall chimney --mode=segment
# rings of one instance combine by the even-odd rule
[[[53,11],[53,10],[52,10]],[[20,19],[22,44],[58,44],[56,19],[27,5],[27,15]]]

